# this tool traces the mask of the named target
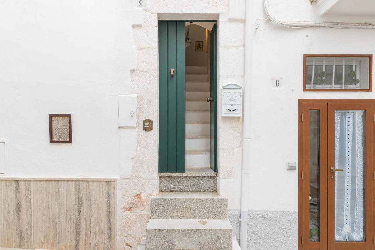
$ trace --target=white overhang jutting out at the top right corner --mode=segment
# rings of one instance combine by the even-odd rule
[[[318,0],[319,14],[375,16],[375,0]]]

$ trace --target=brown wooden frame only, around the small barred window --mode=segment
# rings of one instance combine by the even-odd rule
[[[369,88],[368,89],[314,89],[306,88],[306,58],[307,57],[368,57],[369,58]],[[303,55],[303,91],[350,91],[371,92],[372,91],[372,55],[353,54],[304,54]]]

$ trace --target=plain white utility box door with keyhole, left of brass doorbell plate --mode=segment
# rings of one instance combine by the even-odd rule
[[[135,128],[137,121],[137,96],[118,95],[118,127]]]

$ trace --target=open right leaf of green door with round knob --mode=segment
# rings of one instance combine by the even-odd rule
[[[210,33],[210,167],[217,171],[217,25]]]

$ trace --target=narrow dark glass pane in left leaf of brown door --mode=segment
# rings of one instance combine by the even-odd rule
[[[320,168],[320,110],[310,110],[310,151],[309,151],[309,176],[310,176],[310,242],[319,241],[319,168]]]

